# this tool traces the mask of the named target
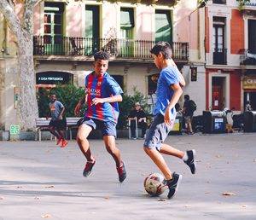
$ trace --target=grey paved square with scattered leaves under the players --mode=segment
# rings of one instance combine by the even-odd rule
[[[143,190],[145,176],[158,171],[143,140],[117,140],[128,174],[122,184],[100,140],[90,140],[97,163],[87,178],[74,141],[67,148],[0,142],[0,219],[256,219],[256,134],[169,136],[166,143],[197,153],[195,175],[166,157],[183,174],[172,200]]]

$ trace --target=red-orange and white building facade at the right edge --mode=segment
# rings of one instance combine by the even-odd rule
[[[212,0],[206,7],[206,109],[256,109],[256,1]]]

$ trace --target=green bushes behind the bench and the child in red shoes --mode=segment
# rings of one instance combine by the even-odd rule
[[[61,101],[66,108],[65,116],[74,117],[74,108],[79,100],[84,96],[84,89],[78,88],[73,84],[57,85],[50,91],[41,88],[37,94],[39,117],[46,117],[49,115],[49,96],[53,93],[57,96],[57,100]],[[84,108],[81,110],[81,117],[83,116],[83,113]]]

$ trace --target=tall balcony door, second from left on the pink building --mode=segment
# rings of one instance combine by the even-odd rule
[[[85,6],[85,55],[100,49],[100,9],[97,5]]]

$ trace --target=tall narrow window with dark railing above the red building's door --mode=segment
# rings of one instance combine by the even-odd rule
[[[212,48],[213,64],[226,64],[225,18],[213,17]]]

